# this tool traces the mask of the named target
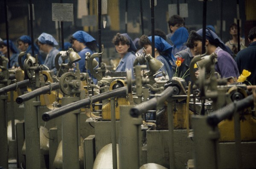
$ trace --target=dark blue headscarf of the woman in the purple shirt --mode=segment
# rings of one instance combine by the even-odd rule
[[[196,33],[203,37],[203,29],[199,29]],[[225,43],[223,43],[222,40],[218,37],[218,35],[212,32],[210,29],[206,29],[205,38],[209,41],[216,43],[218,46],[221,47],[221,49],[228,52],[231,56],[233,55],[231,49],[227,47]]]

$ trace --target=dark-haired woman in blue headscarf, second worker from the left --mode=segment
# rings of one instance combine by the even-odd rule
[[[31,37],[28,35],[22,35],[21,37],[19,37],[19,39],[17,40],[18,43],[18,47],[21,50],[21,52],[25,52],[26,54],[31,54],[32,55],[32,41],[31,41]],[[41,56],[41,54],[39,53],[39,49],[38,46],[34,45],[34,54],[38,55],[38,62],[39,64],[44,64],[44,59]],[[35,57],[35,56],[33,56]],[[23,58],[21,59],[21,63],[24,64],[24,61],[26,59],[26,56],[23,56]]]

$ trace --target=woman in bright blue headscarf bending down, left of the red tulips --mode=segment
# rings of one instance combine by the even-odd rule
[[[169,79],[172,79],[172,46],[167,43],[163,38],[159,36],[154,36],[155,39],[155,58],[160,60],[164,66],[160,69],[160,71],[164,72]],[[152,55],[152,37],[147,37],[146,35],[142,35],[140,37],[140,46],[143,46],[146,50],[146,54]],[[157,77],[162,76],[162,74],[158,74]]]

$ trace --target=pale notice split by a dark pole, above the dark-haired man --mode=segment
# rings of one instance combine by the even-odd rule
[[[189,17],[188,4],[180,3],[179,7],[180,7],[179,8],[180,9],[180,17]],[[169,12],[169,17],[172,17],[172,15],[178,14],[177,4],[169,4],[168,12]]]

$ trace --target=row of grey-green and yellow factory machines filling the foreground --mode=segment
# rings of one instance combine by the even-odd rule
[[[256,168],[255,88],[216,76],[216,54],[193,58],[187,84],[155,78],[163,63],[150,54],[136,55],[133,79],[131,71],[99,65],[102,53],[86,53],[90,74],[76,69],[81,58],[73,49],[57,54],[56,73],[23,52],[21,69],[2,61],[0,166]]]

